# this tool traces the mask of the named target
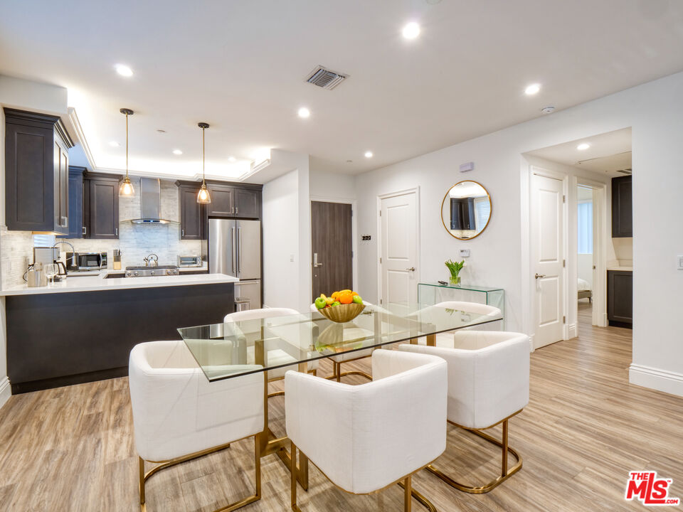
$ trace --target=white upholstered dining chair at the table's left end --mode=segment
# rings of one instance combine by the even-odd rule
[[[221,370],[226,373],[260,368],[223,366]],[[146,511],[144,486],[150,476],[252,436],[255,493],[221,510],[235,510],[260,499],[263,373],[209,383],[184,341],[152,341],[134,346],[128,370],[142,512]],[[145,461],[161,464],[146,474]]]

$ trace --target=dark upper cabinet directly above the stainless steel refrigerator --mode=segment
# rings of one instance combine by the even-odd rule
[[[209,217],[260,219],[263,186],[207,181],[206,188],[211,194],[211,203],[206,205]]]

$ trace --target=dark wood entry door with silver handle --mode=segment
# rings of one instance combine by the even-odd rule
[[[314,299],[353,287],[351,215],[350,204],[311,203]]]

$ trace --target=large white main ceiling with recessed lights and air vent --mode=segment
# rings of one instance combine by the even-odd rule
[[[169,174],[196,173],[199,121],[209,174],[268,148],[356,174],[676,73],[673,48],[679,0],[39,0],[0,16],[0,73],[68,87],[97,166],[125,165],[129,107],[131,168]],[[349,79],[305,83],[317,64]]]

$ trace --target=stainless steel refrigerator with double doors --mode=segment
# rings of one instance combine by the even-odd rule
[[[260,220],[209,219],[208,272],[239,277],[240,282],[235,283],[235,302],[248,299],[248,309],[260,308]]]

